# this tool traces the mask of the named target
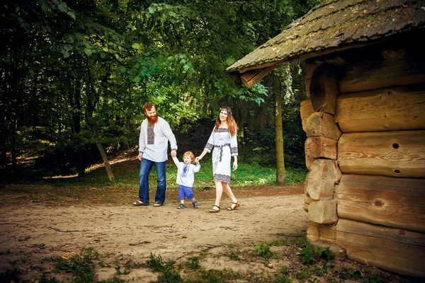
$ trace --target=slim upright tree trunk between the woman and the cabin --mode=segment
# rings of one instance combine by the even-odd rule
[[[283,157],[282,96],[280,95],[280,81],[276,74],[273,74],[273,93],[276,140],[276,183],[278,183],[278,185],[286,185],[285,160]]]

